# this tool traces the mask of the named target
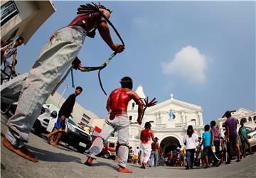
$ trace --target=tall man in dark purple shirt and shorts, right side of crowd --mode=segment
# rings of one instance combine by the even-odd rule
[[[230,111],[225,112],[225,117],[227,118],[227,121],[225,121],[225,128],[227,130],[227,146],[228,146],[228,161],[225,162],[225,164],[229,164],[231,162],[232,157],[232,148],[235,147],[236,152],[238,153],[238,160],[237,162],[240,162],[240,147],[239,147],[239,137],[237,132],[237,120],[235,118],[231,117]]]

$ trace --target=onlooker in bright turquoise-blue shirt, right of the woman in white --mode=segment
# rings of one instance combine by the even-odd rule
[[[209,160],[210,160],[210,140],[211,140],[211,136],[210,136],[210,126],[207,124],[205,127],[205,132],[203,133],[203,155],[205,158],[205,163],[206,166],[205,168],[209,167]]]

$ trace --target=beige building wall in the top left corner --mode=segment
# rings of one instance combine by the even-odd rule
[[[7,1],[1,1],[1,6]],[[18,14],[1,25],[1,41],[21,35],[24,44],[38,28],[56,11],[52,1],[14,1]]]

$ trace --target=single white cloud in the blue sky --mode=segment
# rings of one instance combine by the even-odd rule
[[[170,62],[162,62],[164,74],[176,74],[189,83],[202,83],[206,79],[206,57],[193,46],[186,46],[177,52]]]

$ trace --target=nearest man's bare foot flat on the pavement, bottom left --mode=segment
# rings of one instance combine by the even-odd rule
[[[11,145],[9,140],[7,140],[6,138],[3,138],[2,142],[6,148],[15,152],[17,155],[24,157],[25,159],[30,160],[31,162],[38,162],[36,155],[33,155],[33,153],[30,152],[26,147],[16,148],[14,145]]]

